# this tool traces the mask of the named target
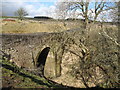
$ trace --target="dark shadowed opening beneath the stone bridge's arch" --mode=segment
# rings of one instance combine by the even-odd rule
[[[49,51],[50,47],[46,47],[38,54],[36,67],[39,68],[39,72],[41,72],[40,76],[44,76],[44,67]]]

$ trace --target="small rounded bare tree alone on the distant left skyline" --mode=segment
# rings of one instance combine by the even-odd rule
[[[19,19],[22,21],[24,19],[24,16],[28,15],[28,12],[21,7],[15,12],[15,15],[18,16]]]

